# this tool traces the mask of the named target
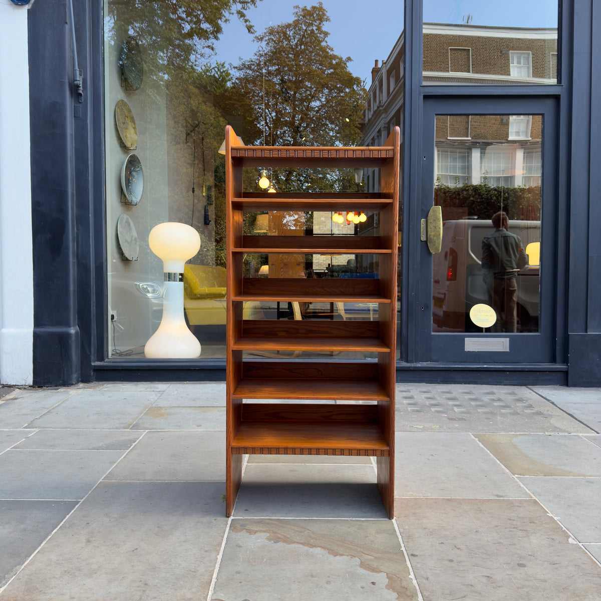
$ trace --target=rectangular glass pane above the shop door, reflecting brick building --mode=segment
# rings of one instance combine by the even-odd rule
[[[423,83],[556,84],[558,0],[424,0]]]

